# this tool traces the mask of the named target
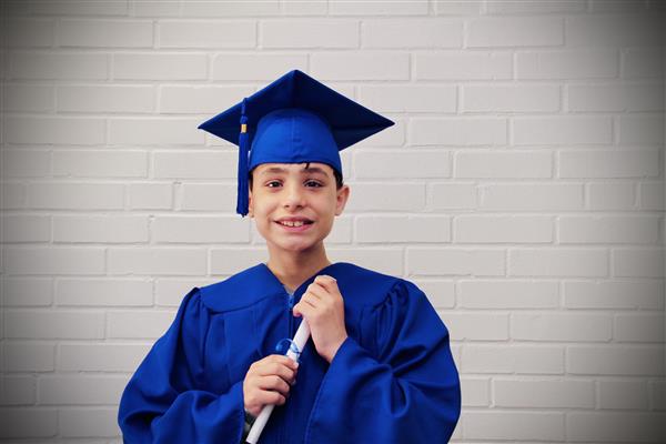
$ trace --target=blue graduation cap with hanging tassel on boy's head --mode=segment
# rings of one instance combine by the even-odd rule
[[[199,129],[239,145],[236,213],[248,214],[248,175],[262,163],[321,162],[342,175],[340,151],[394,124],[293,70]]]

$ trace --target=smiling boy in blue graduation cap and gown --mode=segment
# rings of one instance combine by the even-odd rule
[[[296,70],[200,127],[239,144],[236,212],[270,259],[185,295],[125,387],[125,442],[236,444],[270,404],[260,443],[448,441],[460,381],[427,297],[323,244],[350,195],[339,151],[391,124]],[[275,345],[300,322],[296,364]]]

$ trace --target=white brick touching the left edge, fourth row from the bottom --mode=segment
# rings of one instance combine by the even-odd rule
[[[9,339],[102,339],[104,313],[90,311],[12,311],[4,314]]]

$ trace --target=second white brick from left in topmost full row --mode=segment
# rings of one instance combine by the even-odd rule
[[[58,22],[61,47],[151,48],[153,24],[148,20],[62,19]]]

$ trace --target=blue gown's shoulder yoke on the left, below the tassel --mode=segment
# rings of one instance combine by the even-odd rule
[[[199,290],[203,305],[214,312],[243,309],[283,291],[261,263]]]

